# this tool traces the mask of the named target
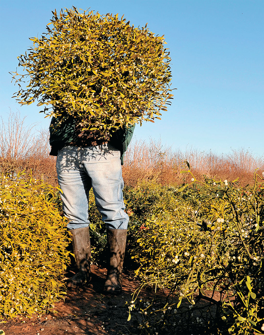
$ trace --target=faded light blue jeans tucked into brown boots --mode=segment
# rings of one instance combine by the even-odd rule
[[[119,150],[108,143],[91,147],[66,145],[58,152],[56,169],[68,229],[89,226],[91,187],[106,228],[127,229]]]

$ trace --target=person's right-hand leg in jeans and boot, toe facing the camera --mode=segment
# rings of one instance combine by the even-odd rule
[[[124,212],[120,151],[109,145],[83,148],[83,164],[91,178],[95,203],[106,224],[108,266],[104,290],[122,290],[128,215]]]

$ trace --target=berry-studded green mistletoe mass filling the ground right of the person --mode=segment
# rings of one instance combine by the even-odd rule
[[[255,174],[254,187],[245,189],[234,182],[193,178],[191,185],[180,188],[143,185],[130,193],[134,196],[128,193],[127,211],[133,235],[128,241],[140,265],[136,274],[142,286],[134,293],[129,318],[136,308],[142,333],[155,334],[156,329],[189,334],[195,329],[206,334],[258,334],[264,320],[263,178]],[[151,200],[155,205],[148,209]],[[141,214],[146,218],[139,222]],[[163,305],[158,299],[138,301],[146,285],[176,292],[179,301],[170,294]],[[215,291],[221,292],[220,302]],[[202,312],[197,302],[208,292],[212,300]],[[181,306],[183,298],[189,308]],[[216,312],[208,312],[210,306]],[[183,317],[184,329],[178,323]]]

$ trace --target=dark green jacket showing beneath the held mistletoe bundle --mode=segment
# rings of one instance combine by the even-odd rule
[[[74,141],[75,138],[75,122],[73,117],[67,119],[52,118],[50,124],[50,145],[51,156],[57,156],[58,150],[63,148],[67,143]],[[124,153],[131,141],[135,125],[132,127],[119,128],[111,135],[109,143],[116,149],[120,150],[121,165],[123,165]]]

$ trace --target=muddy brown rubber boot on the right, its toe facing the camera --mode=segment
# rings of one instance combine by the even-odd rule
[[[120,294],[122,291],[122,268],[125,254],[127,229],[106,229],[109,255],[104,291]]]

